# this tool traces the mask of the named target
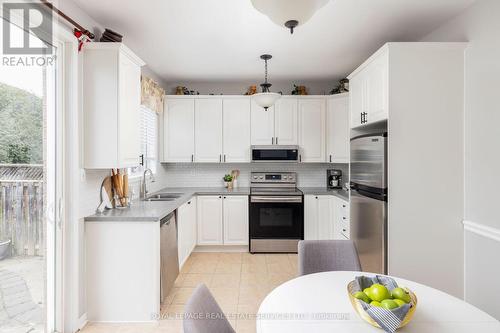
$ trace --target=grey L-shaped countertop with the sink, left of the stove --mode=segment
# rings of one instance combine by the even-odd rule
[[[172,201],[134,200],[129,208],[105,210],[101,214],[85,217],[84,221],[156,222],[188,202],[195,195],[249,195],[250,188],[238,187],[228,190],[225,187],[168,187],[155,193],[160,192],[182,195]]]

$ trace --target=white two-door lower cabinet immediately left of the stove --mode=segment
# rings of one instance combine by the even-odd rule
[[[248,196],[198,196],[198,245],[248,245]]]

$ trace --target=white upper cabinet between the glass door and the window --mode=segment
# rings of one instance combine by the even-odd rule
[[[144,62],[122,43],[83,50],[84,167],[139,165],[139,107]]]

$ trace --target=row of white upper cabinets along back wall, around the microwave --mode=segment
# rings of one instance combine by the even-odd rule
[[[348,94],[282,96],[267,111],[249,96],[167,96],[166,163],[250,163],[251,145],[298,145],[305,163],[349,163]]]

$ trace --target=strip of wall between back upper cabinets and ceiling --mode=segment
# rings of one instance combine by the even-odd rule
[[[264,81],[264,77],[262,77]],[[269,80],[273,86],[271,87],[272,92],[283,92],[285,95],[289,95],[293,90],[293,84],[305,85],[309,95],[327,95],[333,88],[338,85],[336,81],[289,81],[289,82],[275,82],[270,78]],[[167,94],[175,94],[175,88],[177,86],[187,87],[189,90],[199,91],[202,95],[208,94],[225,94],[225,95],[242,95],[251,85],[256,85],[257,90],[260,92],[260,86],[262,82],[259,80],[257,82],[169,82],[167,83]]]

